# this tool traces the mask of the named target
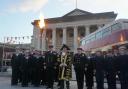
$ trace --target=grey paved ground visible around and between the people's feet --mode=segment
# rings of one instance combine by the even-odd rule
[[[75,73],[73,72],[73,80],[75,80]],[[105,83],[105,89],[107,89],[107,84]],[[76,81],[70,82],[71,89],[77,89]],[[120,89],[120,84],[117,84],[117,89]],[[18,86],[11,86],[11,70],[8,70],[8,72],[0,72],[0,89],[46,89],[45,87],[21,87],[19,84]],[[55,85],[55,89],[57,89]],[[86,89],[86,87],[84,88]],[[96,89],[96,83],[94,83],[94,89]]]

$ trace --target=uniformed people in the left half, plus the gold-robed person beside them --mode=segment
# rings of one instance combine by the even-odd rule
[[[38,87],[40,84],[53,88],[54,82],[58,82],[60,88],[64,87],[64,80],[71,79],[71,55],[69,48],[63,45],[61,53],[53,51],[53,46],[49,46],[49,51],[23,52],[13,54],[12,65],[12,85],[21,82],[22,87],[28,86],[28,83]],[[61,74],[63,71],[63,74]],[[68,75],[67,75],[68,74]],[[63,76],[62,76],[63,75]],[[69,88],[69,81],[67,88]]]

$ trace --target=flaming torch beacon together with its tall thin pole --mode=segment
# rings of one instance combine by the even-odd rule
[[[44,22],[44,16],[40,14],[39,17],[39,28],[40,28],[40,49],[42,50],[42,36],[44,32],[45,22]]]

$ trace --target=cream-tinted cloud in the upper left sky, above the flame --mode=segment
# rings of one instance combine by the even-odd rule
[[[11,5],[11,12],[37,12],[48,2],[48,0],[22,0],[22,2]]]

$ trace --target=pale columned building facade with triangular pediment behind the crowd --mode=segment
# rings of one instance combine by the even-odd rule
[[[114,12],[91,13],[74,9],[62,17],[45,19],[43,36],[40,34],[40,20],[34,20],[32,47],[45,51],[52,44],[59,50],[62,44],[67,44],[75,52],[81,38],[114,21],[116,16]]]

